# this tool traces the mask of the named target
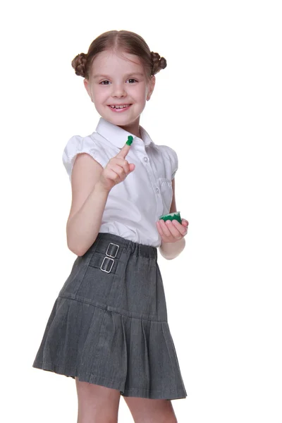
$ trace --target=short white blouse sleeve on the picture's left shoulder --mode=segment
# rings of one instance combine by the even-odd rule
[[[63,149],[63,166],[65,166],[68,176],[71,180],[71,172],[73,171],[73,164],[78,154],[87,153],[90,154],[93,159],[97,160],[103,168],[107,164],[106,157],[102,154],[99,145],[97,145],[92,137],[80,137],[80,135],[74,135],[68,140],[66,147]]]

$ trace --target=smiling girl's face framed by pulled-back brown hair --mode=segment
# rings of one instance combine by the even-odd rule
[[[154,90],[155,77],[146,80],[140,59],[102,51],[92,62],[85,88],[102,118],[139,136],[140,114]],[[112,106],[125,106],[123,109]]]

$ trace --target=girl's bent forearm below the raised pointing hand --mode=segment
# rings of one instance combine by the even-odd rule
[[[80,210],[68,221],[68,248],[75,255],[84,255],[96,240],[108,195],[109,192],[97,182]]]

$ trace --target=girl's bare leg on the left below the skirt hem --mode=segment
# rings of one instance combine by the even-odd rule
[[[117,423],[121,393],[117,389],[80,382],[78,392],[78,423]]]

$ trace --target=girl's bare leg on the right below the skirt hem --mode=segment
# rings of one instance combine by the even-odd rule
[[[135,423],[177,423],[171,400],[123,397]]]

